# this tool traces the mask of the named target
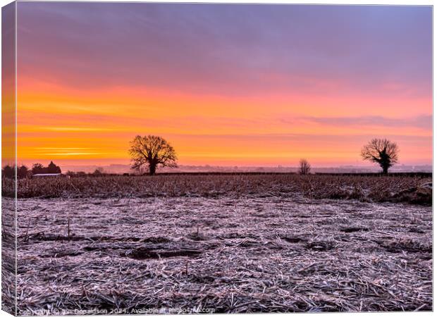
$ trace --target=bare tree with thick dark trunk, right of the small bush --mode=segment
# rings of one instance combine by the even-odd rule
[[[364,160],[378,163],[383,174],[388,174],[388,168],[398,163],[398,144],[388,139],[371,139],[361,150]]]

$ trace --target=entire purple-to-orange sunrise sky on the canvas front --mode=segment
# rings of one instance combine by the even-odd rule
[[[431,164],[431,6],[18,3],[18,163]]]

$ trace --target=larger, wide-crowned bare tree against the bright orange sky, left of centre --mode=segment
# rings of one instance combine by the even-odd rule
[[[157,166],[168,166],[176,168],[176,151],[162,137],[137,135],[130,142],[129,153],[132,161],[132,168],[140,170],[142,166],[149,166],[149,174],[156,173]]]

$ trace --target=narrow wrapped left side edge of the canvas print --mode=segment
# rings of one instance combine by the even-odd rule
[[[1,309],[17,312],[16,1],[1,8]],[[6,174],[6,173],[5,173]]]

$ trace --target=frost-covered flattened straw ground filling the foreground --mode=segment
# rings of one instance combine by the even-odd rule
[[[18,313],[431,310],[431,252],[431,206],[19,199]]]

